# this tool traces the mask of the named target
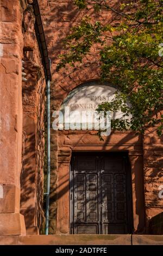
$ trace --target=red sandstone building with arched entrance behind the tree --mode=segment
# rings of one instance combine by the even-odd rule
[[[97,88],[91,94],[97,100],[112,89],[99,82],[98,49],[82,68],[56,72],[62,39],[87,13],[71,0],[38,2],[1,0],[0,243],[90,244],[93,235],[94,244],[130,245],[131,236],[133,244],[162,244],[162,138],[155,128],[144,136],[111,131],[103,141],[93,130],[52,128],[53,111],[66,100],[90,97],[81,96],[83,88]],[[49,235],[43,236],[49,80]]]

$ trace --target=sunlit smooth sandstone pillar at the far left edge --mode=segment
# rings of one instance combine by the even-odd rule
[[[24,1],[24,5],[26,5]],[[1,235],[24,235],[20,215],[23,35],[20,1],[0,2]]]

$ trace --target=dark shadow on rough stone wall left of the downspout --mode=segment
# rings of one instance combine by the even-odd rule
[[[24,114],[20,207],[24,215],[27,234],[39,234],[39,229],[41,231],[45,222],[42,206],[43,166],[40,159],[41,153],[37,152],[36,131],[34,118]]]

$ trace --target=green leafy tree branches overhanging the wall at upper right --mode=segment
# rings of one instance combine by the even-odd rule
[[[61,55],[58,69],[76,66],[94,44],[101,45],[102,80],[118,86],[120,93],[98,111],[123,112],[124,118],[111,121],[114,129],[130,128],[144,133],[157,127],[162,134],[163,115],[163,0],[120,1],[117,9],[107,0],[75,0],[79,9],[90,4],[100,15],[106,10],[120,16],[120,22],[94,21],[84,17],[66,38],[68,52]],[[129,122],[128,116],[132,115]]]

